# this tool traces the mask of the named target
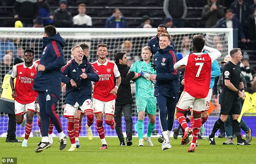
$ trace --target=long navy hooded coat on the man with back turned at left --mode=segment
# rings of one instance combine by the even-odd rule
[[[59,33],[43,38],[43,51],[40,64],[45,66],[45,71],[38,71],[34,79],[35,91],[54,93],[57,98],[61,93],[61,67],[65,64],[62,48],[65,39]]]

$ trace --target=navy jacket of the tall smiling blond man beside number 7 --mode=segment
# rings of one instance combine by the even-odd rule
[[[160,49],[155,53],[154,61],[157,76],[154,96],[157,96],[161,91],[164,96],[178,100],[180,71],[173,68],[178,60],[173,46],[168,46],[163,50]]]

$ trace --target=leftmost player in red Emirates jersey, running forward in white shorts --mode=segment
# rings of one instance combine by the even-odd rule
[[[34,51],[26,49],[24,51],[24,61],[16,64],[10,78],[10,86],[13,90],[12,97],[15,100],[15,115],[17,124],[25,124],[25,137],[22,147],[27,147],[27,140],[33,127],[33,116],[36,110],[37,92],[32,89],[36,76],[36,66],[33,64]],[[16,83],[14,87],[14,79]]]

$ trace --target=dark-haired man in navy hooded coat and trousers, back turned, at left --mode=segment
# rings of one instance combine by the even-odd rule
[[[33,89],[38,91],[38,102],[40,106],[42,141],[38,144],[35,152],[42,152],[50,147],[48,139],[49,118],[52,119],[58,133],[60,149],[67,145],[67,139],[61,127],[59,116],[55,112],[57,101],[61,94],[61,67],[65,64],[62,47],[65,40],[56,34],[52,25],[44,27],[43,51],[40,64],[37,66],[37,75],[34,80]]]

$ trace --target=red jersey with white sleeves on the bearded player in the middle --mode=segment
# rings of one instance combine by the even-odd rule
[[[103,102],[114,100],[116,95],[111,94],[110,91],[115,87],[114,77],[120,76],[117,65],[109,60],[104,64],[100,64],[97,60],[92,65],[99,75],[99,81],[94,83],[92,97]]]

